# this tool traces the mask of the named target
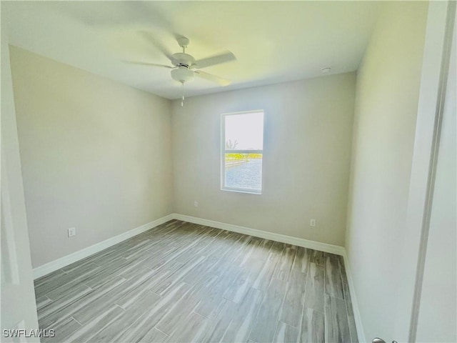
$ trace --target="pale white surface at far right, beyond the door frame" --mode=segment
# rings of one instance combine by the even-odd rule
[[[456,31],[443,108],[417,342],[457,342]]]

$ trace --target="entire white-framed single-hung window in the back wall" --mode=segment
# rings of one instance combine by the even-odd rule
[[[223,114],[221,189],[262,193],[263,111]]]

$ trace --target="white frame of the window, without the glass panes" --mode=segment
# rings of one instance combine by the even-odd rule
[[[256,109],[252,111],[240,111],[240,112],[229,112],[221,114],[221,191],[227,192],[238,192],[238,193],[248,193],[248,194],[262,194],[263,189],[263,149],[261,150],[245,150],[245,149],[236,149],[236,150],[226,150],[226,116],[233,116],[236,114],[250,114],[250,113],[258,113],[262,112],[263,114],[263,141],[262,141],[262,148],[263,143],[265,141],[265,111],[263,109]],[[237,188],[237,187],[225,187],[225,177],[226,177],[226,170],[225,170],[225,157],[226,154],[262,154],[262,169],[261,169],[261,189],[257,191],[255,189],[246,189],[246,188]]]

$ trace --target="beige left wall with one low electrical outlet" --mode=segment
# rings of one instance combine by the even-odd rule
[[[13,46],[11,68],[34,267],[172,212],[169,100]]]

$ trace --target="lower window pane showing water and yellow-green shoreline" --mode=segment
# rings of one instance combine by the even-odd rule
[[[262,154],[225,154],[224,187],[261,192]]]

